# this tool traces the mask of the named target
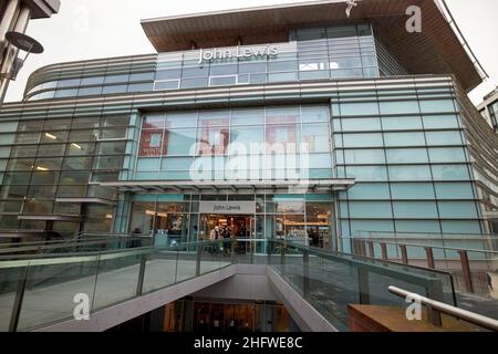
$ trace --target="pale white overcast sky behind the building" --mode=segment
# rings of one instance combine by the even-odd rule
[[[59,62],[155,53],[141,27],[142,19],[218,11],[305,0],[62,0],[60,12],[50,19],[32,20],[27,34],[45,51],[32,55],[11,82],[6,102],[22,100],[25,82],[37,69]],[[446,0],[456,22],[488,79],[470,98],[478,104],[498,85],[498,1]],[[353,10],[354,11],[354,10]],[[423,20],[423,18],[422,18]]]

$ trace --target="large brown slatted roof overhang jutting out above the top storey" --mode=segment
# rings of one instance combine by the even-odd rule
[[[388,50],[409,74],[455,74],[467,91],[483,77],[439,9],[437,0],[359,0],[351,17],[344,0],[289,3],[252,9],[177,15],[143,20],[142,27],[160,52],[197,48],[289,41],[289,31],[299,27],[369,21]],[[406,9],[422,8],[422,33],[406,31]]]

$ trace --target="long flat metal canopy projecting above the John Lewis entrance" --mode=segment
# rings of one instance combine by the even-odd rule
[[[295,180],[243,180],[243,181],[185,181],[185,180],[127,180],[105,181],[103,187],[137,194],[255,194],[255,192],[314,192],[330,194],[354,186],[354,179]]]

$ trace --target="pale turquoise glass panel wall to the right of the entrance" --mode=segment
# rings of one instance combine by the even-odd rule
[[[450,90],[339,93],[332,107],[336,175],[356,179],[339,196],[342,235],[481,232]]]

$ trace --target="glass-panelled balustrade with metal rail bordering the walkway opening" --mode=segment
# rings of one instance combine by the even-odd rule
[[[71,320],[76,293],[90,313],[235,263],[271,267],[336,329],[347,304],[400,304],[388,284],[456,305],[449,273],[370,260],[272,239],[225,239],[0,261],[0,331]]]

